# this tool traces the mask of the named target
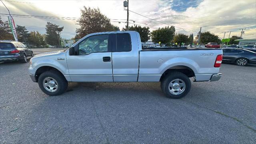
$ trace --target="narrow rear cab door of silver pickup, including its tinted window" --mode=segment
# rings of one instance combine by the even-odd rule
[[[114,82],[136,82],[139,68],[138,38],[135,32],[112,34]]]

